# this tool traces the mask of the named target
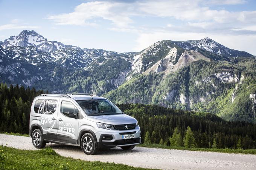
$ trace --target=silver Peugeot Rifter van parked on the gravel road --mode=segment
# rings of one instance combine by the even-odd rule
[[[42,94],[31,106],[29,135],[36,148],[46,143],[81,146],[93,155],[97,149],[133,149],[140,144],[140,126],[108,99],[91,94]]]

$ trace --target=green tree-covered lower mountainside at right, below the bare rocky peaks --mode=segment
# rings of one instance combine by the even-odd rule
[[[256,123],[256,76],[244,62],[199,60],[168,75],[139,75],[104,96],[119,104],[157,104]]]

